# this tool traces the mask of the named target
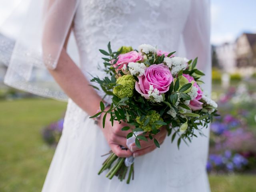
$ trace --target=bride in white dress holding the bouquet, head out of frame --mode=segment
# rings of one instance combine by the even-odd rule
[[[35,4],[36,2],[36,4]],[[146,142],[138,149],[126,146],[123,125],[95,124],[103,92],[90,86],[92,76],[103,77],[101,54],[111,41],[137,48],[140,44],[158,45],[176,55],[195,58],[198,68],[211,80],[210,3],[208,0],[45,0],[44,6],[31,1],[30,14],[10,58],[5,83],[41,96],[63,100],[68,96],[64,130],[44,182],[43,192],[208,192],[205,170],[209,128],[206,137],[194,138],[189,146],[158,134],[162,145]],[[41,15],[41,16],[38,16]],[[28,27],[31,25],[31,28]],[[70,32],[74,32],[80,62],[67,53]],[[5,47],[7,50],[7,48]],[[48,72],[46,70],[48,68]],[[40,73],[38,71],[41,71]],[[43,82],[48,73],[62,88]],[[40,74],[40,75],[38,75]],[[210,86],[202,86],[204,92]],[[105,98],[109,103],[111,98]],[[47,111],[46,111],[47,112]],[[102,118],[102,116],[100,117]],[[102,120],[99,120],[102,122]],[[112,150],[120,157],[134,156],[135,175],[130,184],[117,178],[98,176],[106,154]]]

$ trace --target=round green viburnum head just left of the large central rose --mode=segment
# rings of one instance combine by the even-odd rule
[[[136,80],[132,75],[124,75],[116,80],[119,84],[113,89],[114,95],[118,98],[132,97]]]

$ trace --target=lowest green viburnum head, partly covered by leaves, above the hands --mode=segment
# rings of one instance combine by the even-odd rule
[[[150,118],[148,124],[146,126],[144,126],[144,122]],[[160,114],[158,114],[156,111],[152,110],[150,112],[148,112],[148,114],[146,115],[146,117],[140,121],[140,116],[137,116],[136,117],[136,122],[138,124],[140,124],[140,128],[142,128],[144,131],[151,131],[152,130],[152,124],[155,122],[155,121],[163,121],[163,119],[160,117]],[[156,126],[156,129],[159,129],[162,125],[157,125],[155,124]]]

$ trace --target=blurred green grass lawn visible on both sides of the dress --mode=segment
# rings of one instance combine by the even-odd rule
[[[41,137],[42,127],[58,120],[66,103],[48,99],[0,101],[0,191],[40,191],[54,149]],[[210,176],[212,192],[256,191],[250,175]]]

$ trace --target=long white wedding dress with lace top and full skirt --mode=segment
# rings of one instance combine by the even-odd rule
[[[197,16],[200,12],[201,16]],[[81,0],[74,17],[74,34],[80,68],[90,80],[104,77],[98,69],[111,41],[120,46],[146,43],[187,58],[198,56],[206,76],[204,91],[210,93],[209,2],[207,0]],[[103,96],[102,92],[98,92]],[[108,100],[110,101],[110,100]],[[159,149],[135,159],[130,184],[116,177],[97,174],[110,148],[100,128],[71,99],[64,130],[46,176],[43,192],[209,192],[206,173],[209,128],[206,137],[194,138],[189,146],[166,137]]]

